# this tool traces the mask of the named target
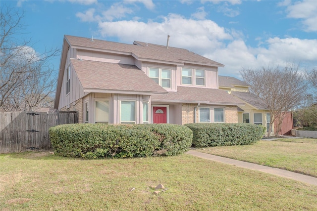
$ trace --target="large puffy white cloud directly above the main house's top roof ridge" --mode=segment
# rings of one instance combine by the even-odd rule
[[[137,40],[166,44],[166,37],[170,35],[170,46],[197,53],[220,47],[221,41],[232,39],[224,28],[211,20],[185,19],[176,14],[162,17],[162,22],[106,21],[100,22],[99,27],[103,37],[118,37],[121,42],[127,43]]]

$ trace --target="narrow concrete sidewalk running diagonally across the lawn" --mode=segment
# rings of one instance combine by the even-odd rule
[[[274,174],[276,176],[282,176],[285,178],[294,179],[294,180],[301,181],[301,182],[306,182],[308,184],[317,185],[317,178],[316,177],[307,176],[304,174],[295,173],[295,172],[288,171],[288,170],[276,169],[276,168],[272,168],[272,167],[265,167],[265,166],[258,165],[258,164],[252,164],[252,163],[248,163],[248,162],[244,162],[244,161],[238,161],[238,160],[234,160],[234,159],[230,159],[230,158],[224,158],[224,157],[220,157],[220,156],[216,156],[216,155],[198,152],[195,150],[189,150],[188,152],[186,152],[186,154],[193,155],[193,156],[196,156],[199,158],[208,159],[211,161],[220,162],[223,164],[229,164],[229,165],[233,165],[236,167],[245,168],[245,169],[259,170],[259,171],[262,171],[265,173]]]

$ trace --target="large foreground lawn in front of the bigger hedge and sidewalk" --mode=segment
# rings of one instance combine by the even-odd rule
[[[155,195],[150,186],[159,183],[167,190]],[[187,154],[114,160],[0,155],[0,184],[1,211],[317,210],[316,186]]]

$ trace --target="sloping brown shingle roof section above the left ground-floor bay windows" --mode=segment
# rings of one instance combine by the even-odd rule
[[[70,61],[84,90],[112,90],[113,93],[116,91],[167,93],[134,65],[78,59],[70,59]]]

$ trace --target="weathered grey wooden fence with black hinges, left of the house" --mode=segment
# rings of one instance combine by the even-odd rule
[[[78,123],[76,111],[0,113],[0,154],[49,150],[49,128]]]

